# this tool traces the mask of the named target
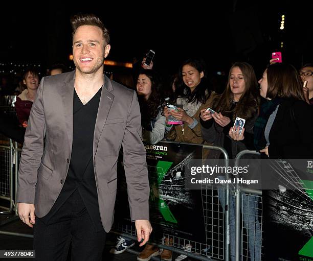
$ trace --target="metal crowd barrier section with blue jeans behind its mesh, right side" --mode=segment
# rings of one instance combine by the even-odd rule
[[[236,166],[239,164],[240,159],[244,155],[260,155],[260,153],[250,150],[243,150],[239,152],[235,158]],[[261,242],[262,242],[262,191],[236,186],[235,261],[239,260],[260,261],[262,254]]]

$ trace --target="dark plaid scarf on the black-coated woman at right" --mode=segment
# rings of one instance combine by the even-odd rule
[[[264,130],[270,115],[275,111],[282,99],[265,100],[261,105],[260,114],[253,127],[253,144],[257,151],[264,149],[266,145]]]

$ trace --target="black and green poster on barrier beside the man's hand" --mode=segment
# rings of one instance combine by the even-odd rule
[[[202,196],[185,188],[184,166],[202,158],[202,146],[175,143],[145,145],[150,183],[150,221],[154,229],[206,243]]]

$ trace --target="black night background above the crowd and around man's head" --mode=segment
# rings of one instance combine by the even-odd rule
[[[228,69],[234,61],[250,62],[258,76],[273,51],[297,68],[313,61],[312,1],[132,2],[110,5],[57,3],[15,5],[0,17],[0,62],[33,62],[48,68],[71,65],[71,15],[95,13],[110,31],[107,59],[131,62],[152,49],[155,67],[169,74],[189,57],[203,57],[210,70]],[[118,2],[117,2],[118,3]],[[47,7],[46,7],[47,5]],[[280,30],[281,15],[285,29]],[[283,42],[283,48],[280,43]],[[72,65],[73,66],[73,65]]]

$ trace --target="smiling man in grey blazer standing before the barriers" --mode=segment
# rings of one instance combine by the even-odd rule
[[[36,258],[45,261],[66,256],[69,238],[74,260],[101,260],[114,219],[121,147],[140,246],[152,231],[136,92],[103,74],[110,45],[102,21],[76,15],[71,22],[76,69],[42,78],[18,173],[19,217],[34,226]]]

